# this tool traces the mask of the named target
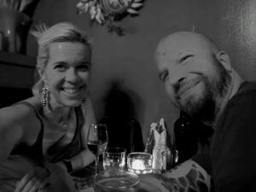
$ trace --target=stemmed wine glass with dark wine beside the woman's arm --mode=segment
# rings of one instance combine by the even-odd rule
[[[99,154],[102,154],[108,145],[108,130],[105,124],[91,124],[87,135],[87,146],[96,155],[96,174]]]

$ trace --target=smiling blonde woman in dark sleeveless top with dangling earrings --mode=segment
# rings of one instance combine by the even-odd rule
[[[61,175],[95,159],[86,145],[88,127],[95,123],[87,90],[90,44],[70,23],[33,34],[39,74],[34,96],[0,109],[0,190],[71,191]]]

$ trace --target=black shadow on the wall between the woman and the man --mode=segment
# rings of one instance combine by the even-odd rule
[[[141,125],[135,119],[134,103],[119,82],[113,82],[105,99],[102,122],[108,125],[108,147],[122,147],[127,154],[143,151]]]

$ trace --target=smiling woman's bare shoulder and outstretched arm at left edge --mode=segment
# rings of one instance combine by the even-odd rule
[[[7,160],[19,143],[29,145],[35,141],[40,128],[35,118],[35,114],[25,106],[0,109],[0,162]]]

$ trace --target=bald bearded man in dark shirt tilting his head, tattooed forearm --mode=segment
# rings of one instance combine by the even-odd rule
[[[256,84],[241,79],[229,55],[195,32],[162,38],[155,59],[173,104],[215,130],[210,146],[158,182],[171,191],[255,191]]]

